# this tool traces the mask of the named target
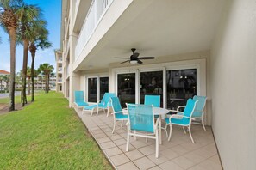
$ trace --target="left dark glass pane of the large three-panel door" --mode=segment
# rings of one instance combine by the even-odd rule
[[[117,95],[122,107],[135,103],[135,73],[117,75]]]

